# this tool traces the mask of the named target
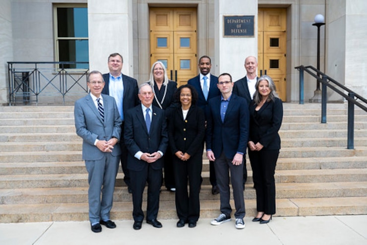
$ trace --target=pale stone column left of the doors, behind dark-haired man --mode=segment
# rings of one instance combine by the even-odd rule
[[[108,56],[123,57],[122,73],[133,74],[132,1],[88,0],[89,68],[108,72]]]

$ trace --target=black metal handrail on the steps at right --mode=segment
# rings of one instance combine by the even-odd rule
[[[339,95],[348,100],[348,139],[347,148],[354,149],[354,105],[367,112],[367,99],[337,82],[328,75],[322,73],[315,67],[300,65],[295,67],[300,71],[300,104],[304,104],[304,71],[317,79],[321,87],[321,123],[326,123],[326,89],[329,87]],[[359,100],[359,101],[358,101]]]

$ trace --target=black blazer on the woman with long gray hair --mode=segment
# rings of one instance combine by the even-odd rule
[[[282,125],[283,103],[279,98],[265,102],[260,110],[255,111],[256,104],[250,105],[249,141],[260,142],[264,150],[279,150],[280,137],[278,131]]]

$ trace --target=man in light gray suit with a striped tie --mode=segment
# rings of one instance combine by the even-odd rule
[[[121,118],[115,99],[101,95],[105,85],[101,72],[91,71],[87,85],[90,94],[75,102],[74,118],[76,134],[83,138],[91,229],[101,232],[101,224],[116,228],[110,212],[121,155]]]

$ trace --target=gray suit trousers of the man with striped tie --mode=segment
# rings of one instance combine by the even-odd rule
[[[105,153],[96,161],[85,161],[88,171],[89,221],[91,224],[110,219],[120,156]],[[102,199],[101,199],[102,192]]]

